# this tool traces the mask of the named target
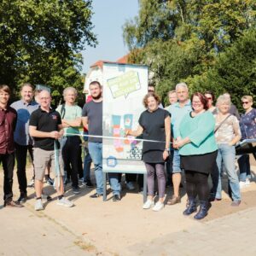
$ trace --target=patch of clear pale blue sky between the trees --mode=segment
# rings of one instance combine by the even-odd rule
[[[126,20],[138,14],[138,0],[93,0],[92,24],[98,44],[96,48],[85,46],[82,52],[84,65],[82,73],[87,73],[96,61],[117,61],[128,53],[123,41],[122,26]]]

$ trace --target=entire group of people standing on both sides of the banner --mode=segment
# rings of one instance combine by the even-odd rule
[[[68,87],[63,91],[65,103],[51,108],[49,91],[38,93],[38,102],[33,101],[32,84],[23,84],[21,99],[9,106],[8,85],[0,85],[0,161],[3,162],[5,207],[22,207],[27,199],[26,154],[33,163],[36,202],[35,210],[43,210],[44,176],[49,179],[49,168],[54,173],[57,204],[73,207],[73,202],[64,196],[64,175],[69,173],[74,194],[79,194],[81,139],[79,128],[84,126],[88,140],[88,152],[84,158],[85,185],[91,187],[90,163],[93,161],[96,177],[96,193],[91,198],[103,195],[102,173],[102,85],[90,83],[90,102],[80,108],[76,104],[77,90]],[[238,159],[240,177],[235,168],[235,145],[241,139],[256,137],[256,110],[253,97],[241,98],[245,113],[239,115],[230,101],[230,95],[218,96],[216,107],[214,95],[194,93],[189,99],[187,84],[180,83],[168,93],[170,106],[162,108],[160,98],[149,90],[143,99],[145,111],[138,120],[136,131],[126,131],[126,136],[143,135],[142,160],[147,169],[148,200],[143,209],[158,212],[165,206],[166,171],[167,183],[173,184],[172,198],[167,205],[181,202],[179,189],[182,172],[185,173],[188,201],[184,215],[196,212],[196,219],[207,216],[210,201],[221,200],[221,177],[225,170],[229,177],[231,206],[239,206],[240,189],[250,183],[250,163],[247,154]],[[93,136],[90,136],[93,135]],[[153,143],[150,141],[159,141]],[[86,148],[85,148],[86,149]],[[17,177],[20,197],[13,200],[13,172],[17,160]],[[89,169],[89,170],[88,170]],[[65,171],[65,172],[64,172]],[[208,177],[212,177],[212,189]],[[154,203],[154,181],[158,182],[158,201]],[[171,179],[172,177],[172,179]],[[121,199],[120,177],[108,173],[113,190],[113,201]],[[127,176],[129,179],[129,176]],[[130,184],[131,182],[127,182]],[[197,212],[197,198],[200,209]]]

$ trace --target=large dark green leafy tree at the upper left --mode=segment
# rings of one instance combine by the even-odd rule
[[[79,54],[94,46],[91,0],[1,0],[0,83],[47,84],[55,103],[67,86],[82,90]]]

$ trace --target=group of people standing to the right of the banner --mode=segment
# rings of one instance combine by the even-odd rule
[[[143,161],[148,172],[148,200],[144,209],[152,207],[160,211],[164,207],[166,176],[164,163],[167,158],[167,178],[172,173],[173,195],[166,204],[181,201],[179,188],[182,171],[185,173],[188,201],[184,215],[196,212],[194,218],[207,216],[210,201],[222,198],[222,172],[229,178],[231,206],[241,203],[240,189],[249,185],[249,156],[243,154],[238,160],[240,178],[236,173],[236,143],[245,138],[256,138],[256,110],[253,97],[242,96],[245,113],[239,115],[230,95],[218,96],[216,107],[214,95],[207,91],[194,93],[189,99],[187,84],[176,85],[176,90],[168,94],[170,106],[160,108],[159,97],[149,91],[143,102],[146,110],[141,114],[137,131],[127,131],[127,135],[143,134],[146,140],[160,143],[143,143]],[[170,143],[171,118],[171,143]],[[153,121],[154,120],[154,121]],[[169,145],[171,144],[171,147]],[[154,204],[154,173],[158,178],[159,200]],[[212,189],[208,177],[212,177]],[[168,181],[167,181],[168,183]],[[200,208],[197,211],[197,198]]]

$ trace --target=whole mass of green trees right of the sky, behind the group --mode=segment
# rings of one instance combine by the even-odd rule
[[[253,33],[256,25],[255,1],[139,2],[139,15],[134,20],[126,21],[124,38],[131,49],[130,61],[148,65],[153,74],[151,82],[156,85],[160,96],[165,97],[166,92],[181,81],[189,84],[191,92],[209,87],[217,94],[228,90],[236,99],[235,102],[245,92],[241,90],[241,84],[251,88],[249,84],[253,75],[250,70],[253,70],[253,66],[244,66],[244,59],[236,56],[235,52],[241,48],[234,48],[236,64],[230,64],[233,62],[231,59],[224,62],[222,58],[228,58],[230,51],[227,50],[241,39],[244,32],[248,30],[247,35]],[[250,48],[249,52],[253,50],[253,44],[247,44],[247,47]],[[218,67],[220,62],[223,65],[221,69]],[[218,67],[218,71],[214,67]],[[248,67],[248,70],[244,73],[231,71],[236,67],[237,70]],[[224,83],[229,79],[240,83],[237,90]],[[247,91],[252,93],[251,90]]]

